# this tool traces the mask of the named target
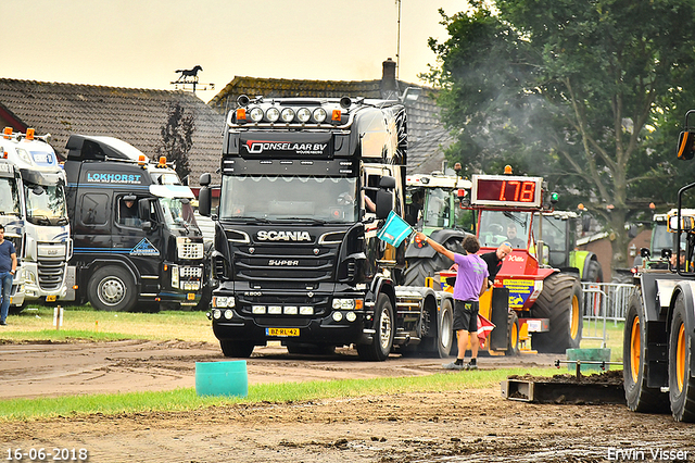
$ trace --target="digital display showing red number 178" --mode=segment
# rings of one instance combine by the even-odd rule
[[[543,178],[473,175],[471,205],[540,208]]]

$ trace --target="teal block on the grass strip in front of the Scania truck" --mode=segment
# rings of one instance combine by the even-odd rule
[[[195,392],[198,396],[247,397],[247,361],[195,362]]]

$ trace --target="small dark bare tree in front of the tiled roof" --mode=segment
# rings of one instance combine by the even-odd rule
[[[162,139],[156,147],[157,155],[166,157],[175,164],[179,178],[186,178],[190,173],[188,153],[193,147],[195,132],[195,116],[186,113],[178,102],[169,103],[166,111],[166,124],[162,126]]]

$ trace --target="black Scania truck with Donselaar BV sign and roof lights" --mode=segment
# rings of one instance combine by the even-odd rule
[[[279,340],[291,353],[354,345],[447,355],[451,295],[399,287],[404,245],[377,238],[403,215],[407,133],[397,101],[242,96],[227,117],[222,185],[201,176],[200,212],[219,188],[213,330],[226,356]]]

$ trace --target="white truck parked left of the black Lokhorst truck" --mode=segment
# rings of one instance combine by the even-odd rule
[[[54,302],[67,291],[65,274],[73,247],[65,202],[66,177],[48,140],[49,136],[38,137],[31,128],[22,134],[5,127],[0,137],[2,155],[18,174],[14,176],[14,188],[20,205],[18,210],[13,209],[13,216],[22,223],[22,227],[14,228],[22,228],[22,239],[15,243],[21,265],[12,305],[20,310],[31,301]],[[0,204],[5,200],[0,192]]]

